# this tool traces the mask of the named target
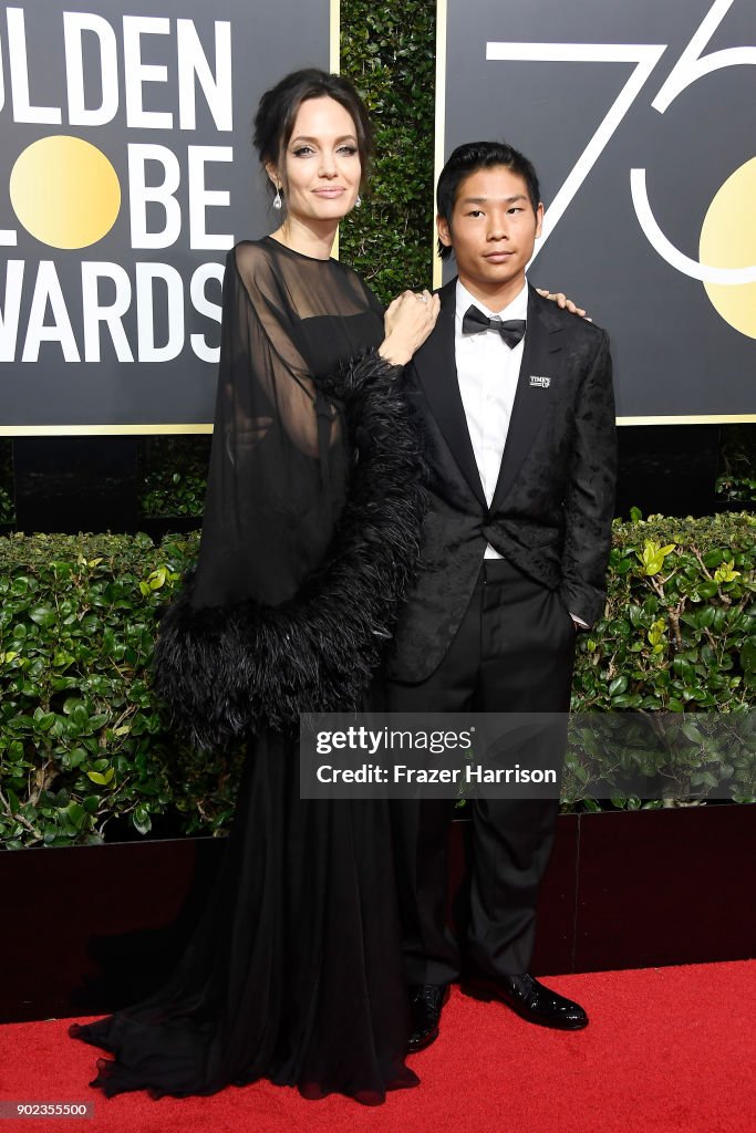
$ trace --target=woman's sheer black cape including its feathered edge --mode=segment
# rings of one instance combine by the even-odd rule
[[[199,559],[155,650],[204,747],[356,707],[418,556],[422,459],[375,299],[273,245],[229,254]]]

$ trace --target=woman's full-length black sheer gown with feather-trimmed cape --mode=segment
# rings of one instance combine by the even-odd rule
[[[376,1104],[413,1085],[384,802],[299,799],[299,710],[365,705],[424,504],[381,307],[356,273],[271,238],[230,254],[199,561],[155,679],[209,747],[245,736],[213,897],[175,976],[70,1033],[108,1096],[267,1077]]]

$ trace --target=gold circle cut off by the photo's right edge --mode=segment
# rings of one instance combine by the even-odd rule
[[[698,255],[712,267],[756,264],[756,157],[728,177],[704,218]],[[722,318],[756,339],[756,283],[704,283]]]

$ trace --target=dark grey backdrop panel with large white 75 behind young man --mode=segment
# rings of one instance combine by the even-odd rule
[[[464,142],[534,162],[546,212],[529,276],[610,331],[620,423],[756,420],[753,0],[439,0],[438,15],[436,174]]]

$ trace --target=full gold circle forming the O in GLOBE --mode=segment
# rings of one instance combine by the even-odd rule
[[[10,202],[26,231],[42,244],[86,248],[116,223],[121,187],[96,146],[58,134],[19,154],[10,174]]]

